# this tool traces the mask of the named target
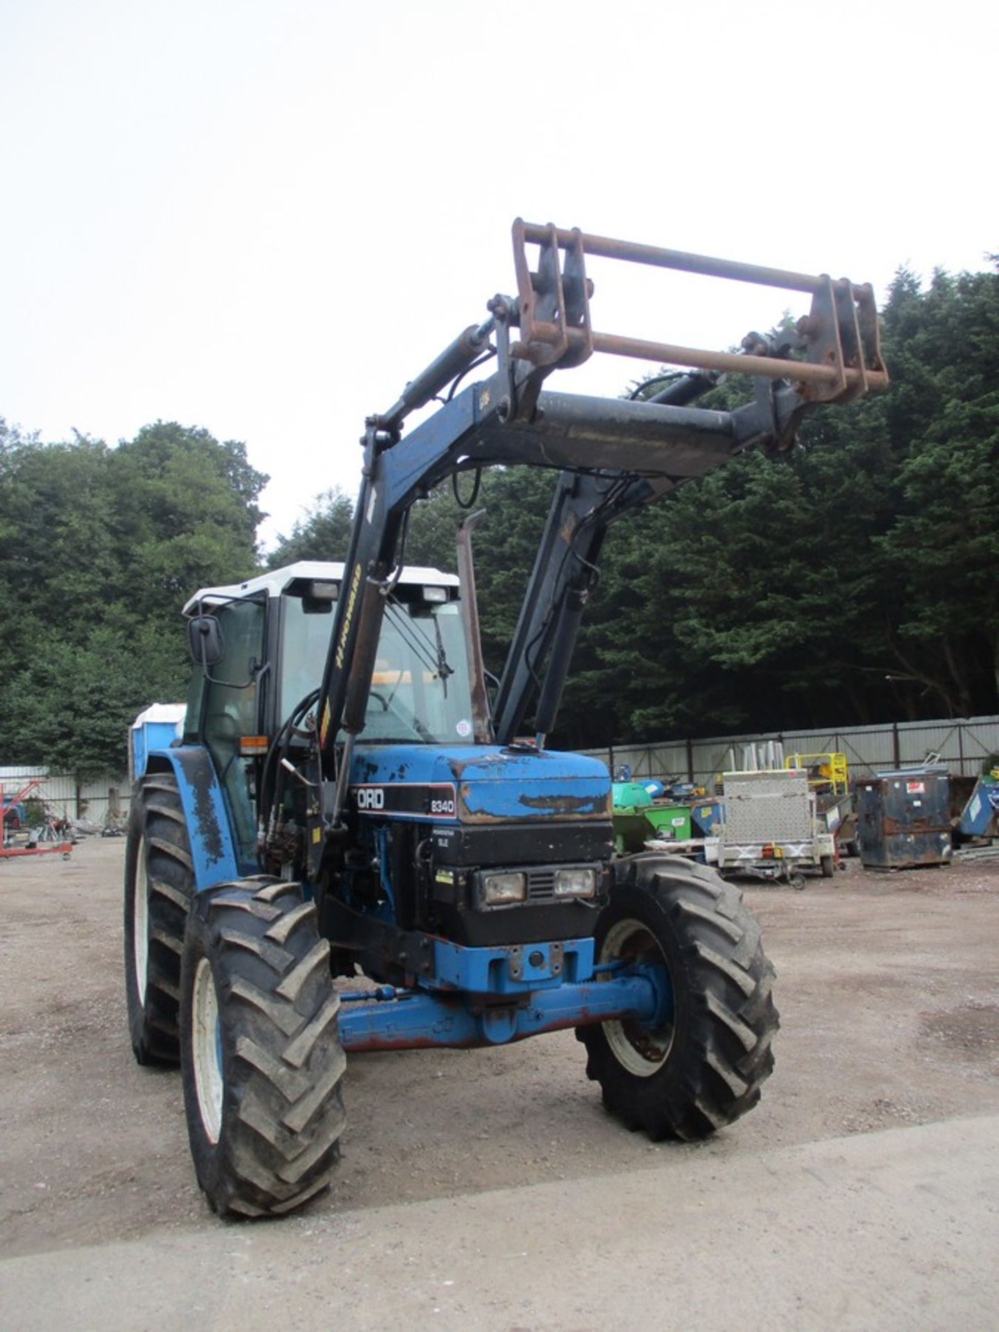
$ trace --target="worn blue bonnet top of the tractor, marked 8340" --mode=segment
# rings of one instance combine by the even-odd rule
[[[352,785],[453,786],[457,819],[610,818],[606,766],[583,754],[522,751],[485,745],[364,745],[354,753]],[[372,811],[374,813],[374,811]],[[392,818],[429,815],[394,813]]]

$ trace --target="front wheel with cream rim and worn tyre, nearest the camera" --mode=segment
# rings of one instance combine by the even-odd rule
[[[329,1184],[344,1128],[338,1008],[329,942],[297,883],[260,876],[198,895],[181,966],[181,1070],[213,1211],[280,1215]]]

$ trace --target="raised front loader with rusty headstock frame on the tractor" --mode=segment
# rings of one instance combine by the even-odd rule
[[[535,730],[543,743],[554,725],[607,525],[750,446],[789,448],[811,405],[847,402],[887,384],[870,286],[519,220],[513,230],[517,297],[494,297],[489,320],[465,329],[406,385],[388,412],[365,424],[362,484],[320,691],[328,829],[337,826],[344,807],[381,621],[393,575],[405,557],[406,518],[416,500],[449,476],[497,464],[561,473],[496,709],[497,738],[509,743],[531,691],[538,689]],[[529,245],[538,252],[534,269],[527,261]],[[751,334],[739,353],[598,333],[590,320],[593,286],[586,277],[586,254],[806,290],[813,296],[811,313],[799,322],[793,345],[769,345]],[[519,338],[514,341],[515,329]],[[594,350],[689,366],[697,373],[649,401],[545,388],[555,369],[579,365]],[[493,354],[492,376],[453,392],[402,437],[412,412]],[[711,374],[725,372],[751,378],[750,401],[731,412],[691,405],[710,388]]]

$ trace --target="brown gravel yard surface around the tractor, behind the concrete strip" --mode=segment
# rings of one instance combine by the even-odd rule
[[[132,1060],[124,840],[0,862],[0,1239],[5,1257],[209,1229],[178,1074]],[[571,1032],[484,1051],[356,1055],[333,1189],[302,1219],[725,1163],[999,1112],[999,859],[746,886],[778,971],[777,1072],[709,1143],[606,1116]]]

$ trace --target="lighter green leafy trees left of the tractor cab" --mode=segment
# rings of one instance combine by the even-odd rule
[[[244,445],[156,422],[109,449],[0,433],[0,749],[77,775],[121,770],[136,713],[182,697],[180,610],[257,566],[266,477]]]

